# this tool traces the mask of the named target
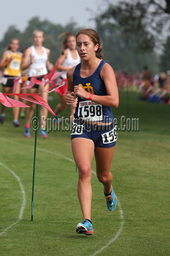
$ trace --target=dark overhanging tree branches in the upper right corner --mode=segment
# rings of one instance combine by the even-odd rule
[[[170,0],[105,0],[107,8],[96,16],[120,31],[135,52],[160,49],[170,26]],[[167,24],[169,24],[168,27]]]

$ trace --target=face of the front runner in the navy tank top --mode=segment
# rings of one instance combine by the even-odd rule
[[[80,34],[77,37],[77,51],[82,60],[90,60],[96,57],[98,44],[94,45],[91,38],[86,34]]]

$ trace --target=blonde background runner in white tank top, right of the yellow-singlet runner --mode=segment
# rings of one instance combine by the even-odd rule
[[[46,75],[47,69],[51,71],[53,65],[50,63],[50,50],[42,46],[44,42],[44,32],[41,30],[35,30],[33,32],[33,41],[34,46],[28,47],[23,58],[22,62],[22,69],[29,68],[28,75],[29,76],[37,76],[37,80],[43,81],[44,76]],[[31,78],[28,78],[30,81]],[[49,88],[49,84],[42,82],[41,84],[35,84],[31,89],[27,89],[28,93],[36,93],[37,91],[41,92],[41,97],[48,102],[48,94],[44,91],[45,89]],[[34,114],[35,103],[29,102],[30,107],[27,109],[26,115],[26,123],[25,123],[25,130],[24,136],[26,138],[30,138],[30,123]],[[40,120],[41,120],[41,128],[40,128],[40,135],[43,138],[47,137],[47,133],[44,129],[45,120],[43,119],[44,116],[47,118],[48,111],[44,106],[40,108]],[[43,118],[42,118],[43,117]]]

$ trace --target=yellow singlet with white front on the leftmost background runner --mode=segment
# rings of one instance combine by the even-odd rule
[[[14,57],[14,59],[11,60],[10,63],[7,64],[7,66],[4,70],[4,75],[21,76],[22,57],[19,54],[19,52],[13,53],[13,52],[11,52],[11,50],[8,50],[7,59],[10,59],[12,56]]]

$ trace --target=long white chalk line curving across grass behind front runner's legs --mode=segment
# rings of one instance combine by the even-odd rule
[[[2,139],[2,140],[6,141],[6,142],[11,142],[11,143],[14,143],[14,144],[17,144],[17,145],[22,145],[22,146],[24,145],[24,146],[29,146],[31,148],[34,148],[34,146],[31,146],[31,145],[28,145],[28,144],[22,144],[22,143],[18,143],[18,142],[13,142],[11,140],[6,140],[6,139]],[[49,150],[46,150],[46,149],[41,149],[41,148],[36,148],[36,149],[38,149],[40,151],[44,151],[46,153],[50,153],[50,154],[53,154],[53,155],[60,156],[62,158],[65,158],[65,159],[75,163],[75,161],[73,159],[67,158],[66,156],[63,156],[61,154],[58,154],[58,153],[55,153],[55,152],[52,152],[52,151],[49,151]],[[96,175],[96,172],[92,171],[92,173]],[[115,236],[106,245],[101,247],[97,252],[95,252],[91,256],[95,256],[97,254],[100,254],[100,252],[102,252],[104,249],[106,249],[110,244],[112,244],[119,237],[119,235],[120,235],[120,233],[121,233],[121,231],[123,229],[124,217],[123,217],[123,210],[121,209],[121,205],[120,205],[119,200],[117,201],[117,204],[119,206],[119,214],[120,214],[120,220],[121,220],[120,228],[119,228],[118,232],[115,234]]]

